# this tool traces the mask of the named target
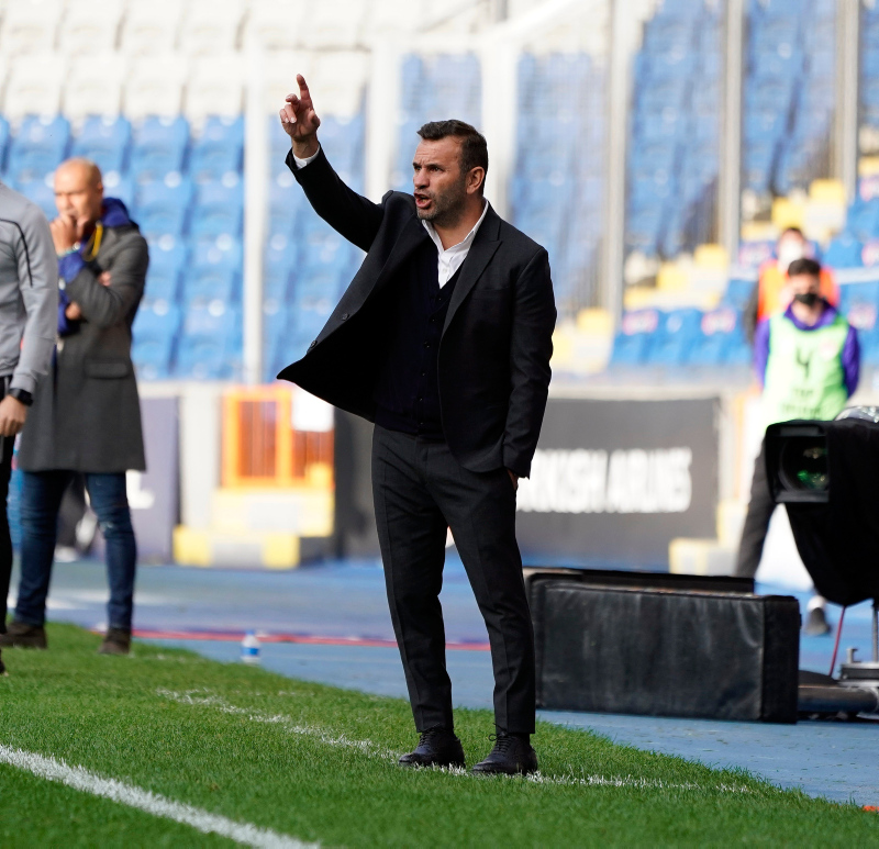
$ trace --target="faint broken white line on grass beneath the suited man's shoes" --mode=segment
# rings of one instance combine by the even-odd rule
[[[299,725],[291,716],[283,714],[269,714],[265,711],[259,711],[249,707],[238,707],[237,705],[226,702],[225,699],[214,695],[210,690],[187,690],[183,693],[178,693],[173,690],[159,689],[156,691],[163,699],[169,699],[178,704],[188,704],[198,707],[212,707],[221,713],[233,714],[235,716],[244,716],[254,723],[262,723],[265,725],[279,725],[290,734],[301,735],[303,737],[311,737],[312,739],[323,742],[326,746],[342,747],[346,749],[356,749],[369,757],[378,757],[382,760],[397,761],[400,752],[386,749],[371,740],[353,740],[344,734],[336,735],[325,728],[320,728],[314,725]],[[445,772],[455,778],[468,778],[478,781],[483,781],[485,777],[474,775],[469,770],[461,769],[460,767],[449,768],[434,768],[437,772]],[[509,777],[511,780],[520,780],[519,777]],[[670,783],[661,781],[660,779],[643,779],[635,778],[634,775],[624,775],[622,778],[605,778],[604,775],[542,775],[539,772],[533,775],[524,777],[525,781],[532,784],[553,784],[569,787],[632,787],[634,790],[696,790],[703,793],[754,793],[752,787],[743,784],[693,784],[691,782]]]

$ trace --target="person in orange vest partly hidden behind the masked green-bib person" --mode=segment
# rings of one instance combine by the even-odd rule
[[[783,312],[791,302],[790,264],[810,255],[810,245],[799,227],[787,227],[778,237],[776,256],[761,266],[757,284],[745,308],[745,325],[748,338],[753,339],[760,322]],[[821,297],[831,304],[839,303],[839,288],[830,268],[821,269]]]

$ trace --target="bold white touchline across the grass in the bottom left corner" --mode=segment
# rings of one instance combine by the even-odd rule
[[[13,749],[2,744],[0,744],[0,763],[9,763],[46,781],[55,781],[93,796],[110,798],[121,805],[145,811],[153,816],[174,819],[205,835],[216,834],[227,837],[244,846],[259,847],[259,849],[312,849],[320,846],[320,844],[304,844],[293,837],[259,828],[249,823],[236,823],[219,814],[174,802],[158,793],[124,784],[115,779],[105,779],[82,767],[68,767],[63,760]]]

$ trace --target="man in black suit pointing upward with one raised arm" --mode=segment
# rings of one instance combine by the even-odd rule
[[[391,619],[418,748],[403,766],[464,766],[439,605],[446,528],[486,621],[497,737],[479,773],[537,769],[534,635],[515,540],[549,384],[556,320],[547,253],[483,199],[486,139],[425,124],[414,198],[376,204],[318,142],[305,80],[280,110],[287,165],[318,214],[367,252],[307,355],[278,376],[375,422],[372,490]]]

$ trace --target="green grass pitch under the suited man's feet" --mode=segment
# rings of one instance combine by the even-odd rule
[[[3,652],[0,744],[302,840],[879,846],[879,816],[855,806],[548,724],[535,746],[555,783],[401,770],[393,756],[415,736],[400,700],[144,644],[101,657],[98,638],[71,626],[48,636],[48,651]],[[491,715],[460,711],[457,723],[468,762],[481,758]],[[572,783],[585,775],[628,783]],[[227,844],[0,766],[0,846]]]

